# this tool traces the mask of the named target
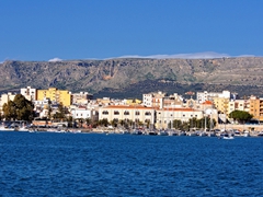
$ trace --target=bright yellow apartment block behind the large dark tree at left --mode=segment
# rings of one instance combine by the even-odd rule
[[[71,105],[71,94],[67,90],[57,90],[49,88],[48,90],[37,90],[37,101],[49,99],[52,102],[62,103],[64,106]]]

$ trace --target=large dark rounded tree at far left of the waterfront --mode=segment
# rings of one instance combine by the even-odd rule
[[[22,94],[16,94],[13,101],[3,104],[3,116],[7,120],[32,120],[34,105]]]

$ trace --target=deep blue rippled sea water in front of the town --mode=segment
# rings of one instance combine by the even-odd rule
[[[263,196],[263,138],[0,131],[0,196]]]

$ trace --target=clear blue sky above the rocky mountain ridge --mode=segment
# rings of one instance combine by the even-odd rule
[[[0,61],[263,56],[262,8],[261,0],[2,0]]]

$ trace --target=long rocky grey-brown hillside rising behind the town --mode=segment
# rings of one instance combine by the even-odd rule
[[[108,59],[71,61],[4,61],[0,92],[25,86],[88,91],[98,96],[138,97],[163,90],[236,91],[263,95],[263,58]]]

